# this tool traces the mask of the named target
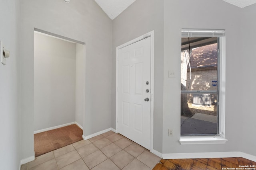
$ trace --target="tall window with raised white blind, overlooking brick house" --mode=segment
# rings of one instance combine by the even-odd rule
[[[224,30],[182,29],[181,136],[224,137]]]

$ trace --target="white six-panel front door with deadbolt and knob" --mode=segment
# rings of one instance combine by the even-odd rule
[[[118,133],[150,149],[151,37],[118,50]]]

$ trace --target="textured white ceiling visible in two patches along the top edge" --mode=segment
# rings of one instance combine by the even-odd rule
[[[111,20],[114,20],[136,0],[95,0]],[[240,8],[256,4],[256,0],[223,0]]]

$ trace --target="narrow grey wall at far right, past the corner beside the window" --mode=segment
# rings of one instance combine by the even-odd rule
[[[241,112],[239,113],[240,121],[236,122],[241,127],[243,140],[242,151],[256,156],[256,111],[255,111],[255,47],[256,47],[256,4],[243,9],[243,20],[241,22],[241,48],[243,51],[239,57],[241,66],[238,71],[242,71],[240,81],[242,86],[239,88],[242,96],[236,96],[236,100],[240,101]],[[238,49],[240,51],[240,49]],[[237,50],[235,50],[237,51]],[[241,100],[242,99],[242,100]]]

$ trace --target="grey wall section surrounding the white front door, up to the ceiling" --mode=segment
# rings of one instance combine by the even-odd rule
[[[164,1],[136,0],[113,20],[112,128],[116,128],[116,47],[154,30],[154,146],[162,152]]]

